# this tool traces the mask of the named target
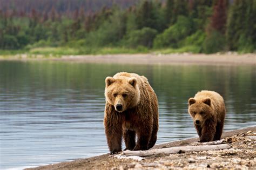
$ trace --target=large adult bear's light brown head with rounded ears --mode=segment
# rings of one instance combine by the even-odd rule
[[[117,112],[124,112],[128,108],[136,106],[140,98],[137,81],[135,77],[107,77],[105,79],[106,101],[113,105]]]

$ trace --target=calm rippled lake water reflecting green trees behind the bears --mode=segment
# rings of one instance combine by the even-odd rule
[[[157,144],[196,137],[187,100],[199,90],[225,99],[225,131],[255,126],[255,66],[0,62],[0,168],[24,168],[108,152],[105,77],[146,76],[159,99]]]

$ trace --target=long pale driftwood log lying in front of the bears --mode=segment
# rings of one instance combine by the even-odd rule
[[[160,148],[160,149],[151,149],[149,151],[129,151],[126,150],[121,154],[126,156],[139,156],[139,157],[149,157],[157,154],[172,154],[172,153],[180,153],[182,151],[186,152],[200,152],[200,151],[208,151],[208,150],[219,150],[219,149],[228,149],[231,148],[228,144],[221,145],[200,145],[200,146],[179,146],[179,147],[169,147],[169,148]]]

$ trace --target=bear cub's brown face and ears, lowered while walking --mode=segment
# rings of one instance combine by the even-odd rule
[[[188,99],[188,113],[190,113],[193,118],[194,125],[202,126],[205,120],[212,117],[214,111],[211,105],[210,98],[203,100],[196,100],[194,98]]]

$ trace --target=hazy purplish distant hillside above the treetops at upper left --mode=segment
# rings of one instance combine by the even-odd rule
[[[84,10],[85,13],[95,12],[103,7],[111,7],[114,4],[120,8],[128,8],[139,0],[0,0],[0,10],[15,10],[28,13],[31,10],[49,12],[53,8],[58,13]]]

